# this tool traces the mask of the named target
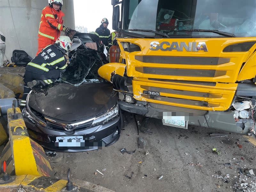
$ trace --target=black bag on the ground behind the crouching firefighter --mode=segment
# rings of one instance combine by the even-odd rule
[[[12,52],[11,60],[12,60],[12,63],[15,63],[15,65],[20,65],[25,67],[32,60],[32,58],[24,50],[14,50]]]

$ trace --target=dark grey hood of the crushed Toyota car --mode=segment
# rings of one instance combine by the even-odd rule
[[[30,93],[28,105],[52,119],[73,122],[108,111],[118,100],[108,82],[83,83],[76,87],[60,83]]]

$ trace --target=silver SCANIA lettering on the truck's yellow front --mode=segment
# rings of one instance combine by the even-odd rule
[[[150,50],[152,51],[172,51],[172,50],[177,50],[177,51],[183,51],[184,49],[186,51],[191,51],[191,52],[198,52],[198,51],[205,51],[208,52],[207,46],[205,42],[167,42],[164,41],[162,43],[159,43],[157,41],[153,41],[150,43]]]

